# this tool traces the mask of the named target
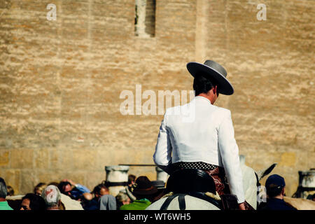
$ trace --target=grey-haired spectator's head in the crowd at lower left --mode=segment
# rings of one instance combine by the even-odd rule
[[[43,190],[41,197],[43,197],[43,200],[45,200],[45,204],[48,210],[58,209],[61,203],[61,193],[59,189],[54,185],[47,186],[47,188]]]

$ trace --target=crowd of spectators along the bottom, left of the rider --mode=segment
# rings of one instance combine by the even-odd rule
[[[128,176],[128,186],[114,197],[106,181],[97,184],[91,191],[86,186],[70,179],[58,182],[38,183],[32,193],[24,195],[18,206],[6,200],[14,196],[11,186],[0,178],[0,210],[66,210],[62,198],[69,197],[80,204],[83,210],[144,210],[160,199],[163,188],[159,188],[147,176]],[[164,186],[164,184],[163,184]]]

